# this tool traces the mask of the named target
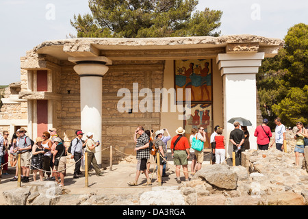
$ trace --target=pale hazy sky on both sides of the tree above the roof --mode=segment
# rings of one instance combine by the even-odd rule
[[[297,23],[308,24],[307,0],[199,0],[196,10],[221,10],[221,35],[283,39]],[[20,58],[46,40],[76,35],[74,14],[90,12],[88,0],[1,0],[0,85],[20,81]]]

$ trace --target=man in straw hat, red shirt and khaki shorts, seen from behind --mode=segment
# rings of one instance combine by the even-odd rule
[[[189,181],[188,159],[190,158],[190,144],[188,143],[188,139],[183,136],[185,130],[182,127],[179,127],[175,132],[177,136],[172,138],[170,149],[176,166],[175,175],[177,175],[177,183],[181,183],[181,166],[183,167],[185,181]]]

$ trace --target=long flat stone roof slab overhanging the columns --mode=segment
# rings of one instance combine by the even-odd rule
[[[71,38],[42,42],[38,54],[57,60],[68,57],[105,56],[110,60],[181,60],[213,58],[219,53],[257,53],[274,57],[284,41],[253,35],[175,38]]]

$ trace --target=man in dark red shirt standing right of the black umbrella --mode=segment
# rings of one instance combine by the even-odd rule
[[[268,144],[270,143],[270,137],[272,137],[272,131],[267,126],[268,119],[264,118],[262,125],[257,126],[255,129],[255,137],[257,137],[258,149],[268,150]]]

